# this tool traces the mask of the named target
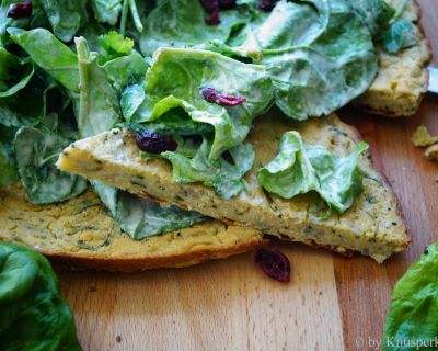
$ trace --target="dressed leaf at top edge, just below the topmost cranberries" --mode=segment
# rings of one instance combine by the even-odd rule
[[[220,12],[218,25],[205,23],[199,1],[163,0],[150,12],[140,37],[140,49],[151,56],[160,47],[188,47],[204,42],[227,43],[233,31],[251,21],[247,7]]]

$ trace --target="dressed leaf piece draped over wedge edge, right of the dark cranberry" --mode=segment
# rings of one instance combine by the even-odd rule
[[[172,163],[172,179],[176,183],[201,182],[216,190],[219,196],[231,199],[247,188],[242,179],[252,168],[254,150],[245,143],[231,148],[219,159],[209,159],[211,140],[204,138],[201,145],[180,143],[176,151],[165,151],[161,156]]]

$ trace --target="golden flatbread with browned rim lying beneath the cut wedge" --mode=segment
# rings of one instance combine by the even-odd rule
[[[186,267],[267,242],[257,229],[218,220],[134,240],[91,189],[60,204],[33,205],[21,185],[0,188],[0,241],[32,247],[65,268],[123,272]]]

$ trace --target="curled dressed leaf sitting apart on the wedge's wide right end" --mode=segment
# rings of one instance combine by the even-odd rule
[[[316,191],[330,208],[343,213],[362,191],[359,156],[368,149],[357,145],[346,157],[334,156],[320,145],[304,145],[298,132],[287,132],[277,156],[258,170],[258,183],[284,199]]]

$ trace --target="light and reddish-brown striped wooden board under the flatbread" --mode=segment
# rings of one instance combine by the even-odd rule
[[[438,57],[438,1],[418,2]],[[438,239],[438,165],[410,140],[420,123],[438,135],[438,95],[405,120],[343,115],[401,201],[413,238],[406,252],[379,265],[281,245],[292,264],[286,285],[266,278],[253,253],[135,274],[59,272],[84,350],[379,350],[395,282]]]

